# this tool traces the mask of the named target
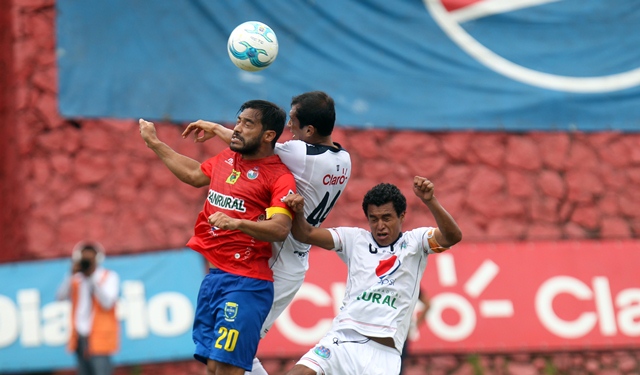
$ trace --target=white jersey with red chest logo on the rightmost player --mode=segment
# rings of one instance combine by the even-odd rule
[[[418,301],[427,255],[437,247],[435,228],[402,233],[380,247],[361,228],[331,228],[334,250],[348,267],[347,287],[334,330],[353,329],[370,337],[393,337],[402,352]]]

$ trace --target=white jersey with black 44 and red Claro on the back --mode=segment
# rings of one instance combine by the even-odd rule
[[[275,153],[291,170],[298,194],[304,197],[304,215],[313,226],[327,218],[351,176],[351,157],[338,148],[311,145],[300,140],[276,144]],[[304,278],[309,269],[309,248],[289,235],[274,242],[270,265],[274,274],[289,280]]]

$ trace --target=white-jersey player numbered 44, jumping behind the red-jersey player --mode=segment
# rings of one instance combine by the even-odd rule
[[[303,216],[313,226],[319,226],[334,207],[351,175],[351,157],[331,133],[335,124],[333,99],[324,92],[312,91],[295,96],[291,101],[287,126],[293,139],[276,144],[275,153],[291,170],[298,193],[305,199]],[[183,136],[195,132],[197,142],[214,136],[229,141],[232,130],[222,125],[196,121],[189,124]],[[270,264],[274,278],[274,299],[261,331],[264,337],[276,319],[291,303],[302,286],[309,268],[311,245],[296,241],[292,236],[273,244]],[[249,374],[249,373],[247,373]],[[250,374],[266,375],[257,359]]]

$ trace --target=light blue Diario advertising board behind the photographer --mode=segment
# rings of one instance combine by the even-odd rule
[[[191,329],[202,257],[173,250],[107,257],[120,276],[116,312],[121,321],[116,364],[193,358]],[[0,265],[0,373],[47,371],[75,366],[67,352],[68,301],[56,301],[69,259]],[[37,359],[37,360],[34,360]]]

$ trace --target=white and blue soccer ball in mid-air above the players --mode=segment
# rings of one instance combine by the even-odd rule
[[[248,21],[238,25],[227,42],[229,58],[240,69],[262,70],[278,56],[278,39],[273,30],[262,22]]]

